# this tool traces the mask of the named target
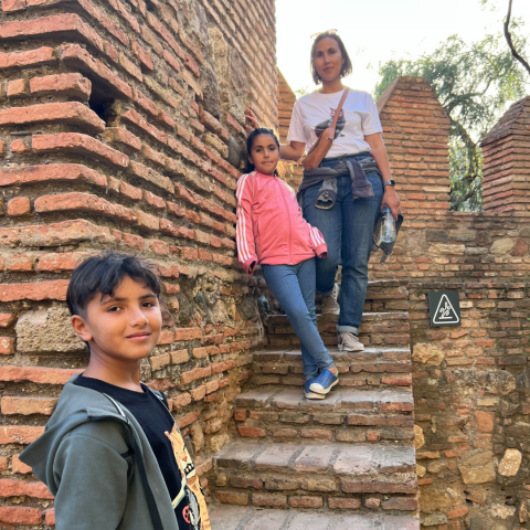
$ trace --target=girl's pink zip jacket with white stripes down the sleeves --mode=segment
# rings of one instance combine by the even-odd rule
[[[301,216],[296,195],[278,177],[257,171],[237,181],[237,255],[251,276],[257,263],[296,265],[327,257],[322,234]]]

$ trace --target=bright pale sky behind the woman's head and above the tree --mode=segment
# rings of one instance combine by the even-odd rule
[[[499,10],[484,9],[479,0],[276,0],[278,67],[293,91],[314,89],[310,35],[337,29],[353,63],[344,83],[373,93],[379,63],[431,53],[453,34],[476,42],[501,32],[508,0],[490,1]],[[526,20],[530,32],[530,0],[513,0],[513,17]]]

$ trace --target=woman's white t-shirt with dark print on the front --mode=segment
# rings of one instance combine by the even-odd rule
[[[342,91],[335,94],[312,92],[295,103],[287,141],[306,144],[306,151],[320,134],[331,125]],[[368,92],[352,91],[348,94],[340,113],[335,140],[326,158],[371,151],[364,136],[382,132],[378,108]]]

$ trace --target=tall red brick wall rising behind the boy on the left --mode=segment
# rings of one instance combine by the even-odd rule
[[[104,250],[160,266],[169,312],[142,380],[208,486],[259,340],[235,257],[244,108],[276,125],[272,0],[2,0],[0,523],[53,523],[18,459],[87,362],[71,271]]]

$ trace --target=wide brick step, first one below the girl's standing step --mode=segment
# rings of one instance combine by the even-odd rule
[[[235,441],[214,466],[221,504],[417,511],[413,447]]]

